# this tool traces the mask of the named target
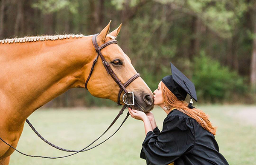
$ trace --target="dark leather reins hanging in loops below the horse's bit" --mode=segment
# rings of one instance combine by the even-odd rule
[[[124,105],[123,107],[122,107],[122,109],[121,109],[121,111],[124,111],[124,109],[127,107],[127,105]],[[119,112],[119,114],[121,113],[121,111]],[[120,114],[120,115],[117,115],[116,116],[116,118],[113,120],[113,122],[111,123],[111,125],[107,128],[107,130],[100,136],[100,137],[102,137],[107,131],[108,131],[108,129],[113,125],[113,123],[118,119],[118,117],[122,114]],[[129,112],[127,113],[127,115],[126,115],[126,117],[125,117],[125,119],[122,121],[122,123],[121,123],[121,125],[119,126],[119,128],[117,128],[117,130],[110,136],[110,137],[108,137],[108,139],[110,139],[114,134],[116,134],[116,132],[122,127],[122,125],[124,124],[124,122],[126,121],[126,119],[128,119],[128,117],[129,117]],[[31,125],[31,124],[30,124]],[[35,129],[35,128],[34,128]],[[33,130],[34,131],[34,130]],[[35,130],[36,131],[36,130]],[[37,132],[37,131],[36,131]],[[37,135],[39,134],[39,133],[36,133]],[[39,134],[40,135],[40,134]],[[99,138],[100,138],[99,137]],[[41,138],[41,135],[40,135],[40,138]],[[42,137],[43,138],[43,137]],[[41,138],[41,139],[42,139]],[[97,138],[96,140],[94,140],[93,142],[91,142],[90,143],[90,145],[92,145],[94,142],[96,142],[99,138]],[[87,145],[85,148],[83,148],[83,149],[81,149],[81,150],[67,150],[67,149],[64,149],[64,148],[60,148],[60,147],[58,147],[58,146],[56,146],[56,145],[53,145],[52,143],[50,143],[50,142],[48,142],[46,139],[42,139],[42,140],[44,140],[44,142],[48,142],[47,144],[49,144],[49,145],[51,145],[52,147],[55,147],[55,148],[57,148],[57,149],[59,149],[59,150],[61,150],[61,151],[67,151],[67,152],[75,152],[75,153],[73,153],[73,154],[70,154],[70,155],[66,155],[66,156],[59,156],[59,157],[49,157],[49,156],[37,156],[37,155],[29,155],[29,154],[24,154],[23,152],[21,152],[21,151],[18,151],[16,148],[14,148],[12,145],[9,145],[7,142],[5,142],[1,137],[0,137],[0,140],[2,140],[6,145],[9,145],[11,148],[13,148],[15,151],[17,151],[18,153],[20,153],[20,154],[22,154],[22,155],[25,155],[25,156],[30,156],[30,157],[39,157],[39,158],[47,158],[47,159],[59,159],[59,158],[64,158],[64,157],[68,157],[68,156],[72,156],[72,155],[75,155],[75,154],[78,154],[79,152],[84,152],[84,151],[89,151],[90,149],[93,149],[93,148],[95,148],[95,147],[97,147],[97,146],[99,146],[99,145],[101,145],[102,143],[104,143],[104,142],[106,142],[108,139],[105,139],[103,142],[101,142],[101,143],[99,143],[98,145],[95,145],[95,146],[93,146],[93,147],[91,147],[91,148],[88,148],[90,145]],[[86,149],[86,148],[88,148],[88,149]]]

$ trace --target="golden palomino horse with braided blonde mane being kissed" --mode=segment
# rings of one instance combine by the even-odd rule
[[[111,23],[111,22],[110,22]],[[121,25],[110,34],[110,23],[97,36],[99,46],[113,40]],[[137,71],[117,44],[102,49],[102,54],[122,83]],[[62,35],[25,37],[0,41],[0,137],[17,147],[27,117],[70,88],[84,88],[97,52],[92,36]],[[119,86],[99,60],[87,84],[89,92],[117,102]],[[134,109],[154,108],[153,94],[138,77],[126,87],[134,91]],[[123,102],[121,102],[124,104]],[[0,142],[0,165],[8,165],[12,148]]]

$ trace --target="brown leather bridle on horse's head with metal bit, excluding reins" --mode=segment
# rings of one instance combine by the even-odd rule
[[[135,79],[137,79],[138,77],[140,77],[140,74],[137,73],[135,74],[133,77],[131,77],[126,83],[122,84],[121,80],[119,80],[119,78],[116,76],[115,72],[112,70],[112,68],[110,67],[109,63],[105,60],[104,56],[102,55],[102,52],[101,52],[101,49],[105,48],[106,46],[109,46],[113,43],[117,43],[116,40],[111,40],[111,41],[108,41],[104,44],[102,44],[102,46],[99,46],[98,43],[97,43],[97,36],[99,34],[94,34],[93,35],[93,46],[95,48],[95,51],[97,52],[97,57],[93,60],[93,65],[91,67],[91,70],[90,70],[90,73],[89,73],[89,76],[85,82],[85,88],[87,89],[87,84],[90,80],[90,77],[93,73],[93,69],[94,69],[94,66],[98,60],[98,57],[100,56],[100,58],[102,59],[102,64],[104,65],[106,71],[108,72],[108,74],[111,75],[111,77],[113,78],[113,80],[116,82],[116,84],[120,87],[120,90],[119,90],[119,93],[118,93],[118,96],[117,96],[117,105],[121,105],[120,104],[120,97],[121,97],[121,94],[122,94],[122,91],[125,91],[125,94],[123,95],[123,102],[126,104],[126,105],[134,105],[134,92],[128,92],[125,87],[128,86],[131,82],[133,82]],[[132,104],[128,104],[127,103],[127,94],[131,93],[132,94]]]

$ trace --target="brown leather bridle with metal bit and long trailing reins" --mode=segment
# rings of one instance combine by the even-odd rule
[[[48,145],[58,149],[58,150],[61,150],[61,151],[66,151],[66,152],[73,152],[73,154],[69,154],[69,155],[66,155],[66,156],[59,156],[59,157],[49,157],[49,156],[36,156],[36,155],[29,155],[29,154],[24,154],[20,151],[18,151],[16,148],[14,148],[12,145],[9,145],[7,142],[5,142],[1,137],[0,137],[0,140],[3,141],[6,145],[9,145],[9,147],[13,148],[15,151],[17,151],[18,153],[20,154],[23,154],[25,156],[30,156],[30,157],[40,157],[40,158],[47,158],[47,159],[58,159],[58,158],[64,158],[64,157],[68,157],[68,156],[72,156],[72,155],[75,155],[75,154],[78,154],[79,152],[84,152],[84,151],[89,151],[99,145],[101,145],[102,143],[104,143],[105,141],[107,141],[108,139],[110,139],[114,134],[116,134],[116,132],[121,128],[121,126],[124,124],[124,122],[126,121],[126,119],[129,117],[129,112],[127,113],[125,119],[122,121],[121,125],[119,126],[119,128],[117,128],[117,130],[110,136],[108,137],[107,139],[105,139],[103,142],[91,147],[91,148],[88,148],[90,147],[94,142],[96,142],[98,139],[100,139],[111,127],[112,125],[116,122],[116,120],[122,115],[123,111],[130,105],[134,105],[134,92],[128,92],[125,87],[127,87],[131,82],[133,82],[135,79],[137,79],[138,77],[140,77],[140,74],[135,74],[133,77],[131,77],[126,83],[122,84],[121,80],[119,80],[119,78],[116,76],[116,74],[114,73],[114,71],[112,70],[112,68],[110,67],[109,63],[105,60],[104,56],[102,55],[101,53],[101,49],[102,48],[105,48],[106,46],[109,46],[113,43],[117,43],[116,40],[111,40],[111,41],[108,41],[107,43],[104,43],[102,44],[102,46],[98,46],[98,43],[97,43],[97,40],[96,40],[96,37],[98,36],[99,34],[94,34],[93,35],[93,46],[97,52],[97,57],[93,60],[93,65],[91,67],[91,70],[90,70],[90,73],[89,73],[89,76],[85,82],[85,88],[87,89],[87,83],[89,82],[90,80],[90,77],[93,73],[93,69],[94,69],[94,66],[98,60],[98,57],[100,56],[101,59],[102,59],[102,64],[104,65],[106,71],[108,74],[111,75],[111,77],[113,78],[113,80],[117,83],[117,85],[120,87],[119,89],[119,93],[118,93],[118,96],[117,96],[117,105],[121,105],[120,104],[120,97],[121,97],[121,94],[122,94],[122,91],[125,91],[125,94],[123,95],[122,97],[122,100],[124,102],[125,105],[123,105],[122,109],[119,111],[119,113],[117,114],[117,116],[115,117],[115,119],[113,120],[113,122],[111,123],[111,125],[109,125],[109,127],[106,129],[106,131],[100,136],[98,137],[96,140],[94,140],[93,142],[90,143],[90,145],[87,145],[86,147],[84,147],[83,149],[81,150],[69,150],[69,149],[64,149],[64,148],[61,148],[61,147],[58,147],[54,144],[52,144],[51,142],[47,141],[46,139],[44,139],[44,137],[42,137],[38,131],[35,130],[35,128],[33,127],[33,125],[29,122],[28,119],[26,119],[26,122],[28,123],[28,125],[32,128],[32,130],[35,132],[35,134],[38,135],[38,137],[40,137],[44,142],[46,142]],[[132,94],[132,104],[128,104],[127,102],[127,94],[131,93]]]

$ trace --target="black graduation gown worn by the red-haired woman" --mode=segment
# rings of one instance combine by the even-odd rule
[[[228,165],[214,135],[177,109],[164,119],[161,132],[147,133],[142,147],[140,158],[147,165]]]

